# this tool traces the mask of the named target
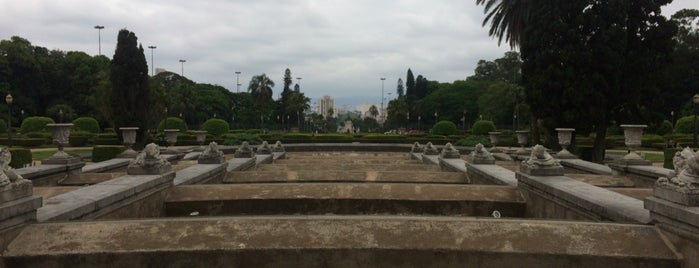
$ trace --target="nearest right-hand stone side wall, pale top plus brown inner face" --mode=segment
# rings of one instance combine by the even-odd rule
[[[566,176],[517,173],[527,199],[527,216],[649,224],[643,201]],[[575,214],[575,215],[571,215]]]

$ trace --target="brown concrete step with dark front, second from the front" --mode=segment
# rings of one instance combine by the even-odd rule
[[[187,185],[165,202],[167,216],[415,214],[523,217],[516,187],[407,183]]]

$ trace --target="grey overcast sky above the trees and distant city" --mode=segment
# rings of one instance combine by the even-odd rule
[[[697,0],[675,0],[666,16]],[[35,46],[114,55],[117,33],[136,33],[149,69],[179,73],[199,83],[241,91],[266,73],[282,89],[286,68],[301,77],[307,96],[330,95],[336,105],[379,103],[408,68],[429,80],[452,82],[473,74],[479,59],[494,60],[510,48],[481,27],[475,0],[0,0],[0,39],[17,35]],[[295,81],[296,82],[296,79]],[[390,97],[388,93],[393,93]]]

